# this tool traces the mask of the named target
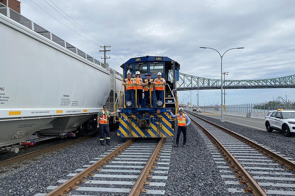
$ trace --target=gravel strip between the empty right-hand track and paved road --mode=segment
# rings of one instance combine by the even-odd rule
[[[204,115],[200,115],[200,117],[204,118],[205,120],[209,120],[210,122],[215,123],[219,126],[222,126],[228,130],[234,131],[245,137],[255,140],[259,144],[263,144],[267,147],[270,147],[273,150],[276,150],[277,152],[281,152],[282,154],[286,155],[286,157],[291,157],[295,160],[295,153],[294,153],[295,138],[288,138],[281,134],[268,133],[266,132],[266,130],[263,131],[263,130],[252,129],[252,128],[244,127],[234,123],[230,123],[227,121],[222,123],[220,122],[219,119],[207,117]]]

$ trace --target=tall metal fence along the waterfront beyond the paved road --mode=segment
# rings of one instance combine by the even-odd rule
[[[220,105],[200,106],[202,110],[221,111]],[[289,109],[295,110],[295,102],[258,102],[258,103],[244,103],[225,105],[224,111],[227,112],[245,112],[245,113],[268,113],[271,110]]]

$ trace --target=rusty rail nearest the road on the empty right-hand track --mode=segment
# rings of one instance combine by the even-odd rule
[[[196,115],[194,115],[192,113],[190,113],[190,114],[193,115],[193,116],[195,116],[196,118],[199,118],[199,119],[201,119],[201,120],[203,120],[203,121],[205,121],[205,122],[207,122],[207,123],[209,123],[209,124],[211,124],[211,125],[219,128],[219,129],[223,130],[225,133],[227,133],[227,134],[229,134],[229,135],[237,138],[238,140],[240,140],[243,143],[247,144],[248,146],[254,148],[258,152],[262,153],[263,155],[266,155],[267,158],[271,158],[271,160],[277,161],[278,162],[278,165],[284,165],[284,166],[286,166],[286,170],[293,170],[294,171],[294,174],[295,174],[295,163],[293,161],[291,161],[289,159],[286,159],[283,156],[281,156],[281,155],[279,155],[279,154],[277,154],[277,153],[275,153],[275,152],[273,152],[273,151],[271,151],[271,150],[269,150],[269,149],[267,149],[267,148],[265,148],[265,147],[263,147],[263,146],[255,143],[255,142],[253,142],[253,141],[251,141],[251,140],[249,140],[249,139],[247,139],[247,138],[245,138],[245,137],[243,137],[243,136],[241,136],[241,135],[239,135],[237,133],[234,133],[234,132],[232,132],[232,131],[230,131],[230,130],[222,127],[222,126],[219,126],[217,124],[214,124],[214,123],[210,122],[209,120],[205,120],[204,118],[201,118],[199,116],[196,116]]]

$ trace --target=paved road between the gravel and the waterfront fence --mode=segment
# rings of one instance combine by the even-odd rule
[[[216,114],[212,112],[203,111],[201,115],[221,119],[221,114]],[[264,125],[264,119],[247,118],[247,117],[234,116],[234,115],[228,115],[228,114],[224,114],[223,119],[226,120],[227,122],[239,124],[246,127],[251,127],[253,129],[266,130]]]

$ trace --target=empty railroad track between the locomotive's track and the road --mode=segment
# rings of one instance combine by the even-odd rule
[[[188,111],[212,154],[229,192],[295,195],[295,163],[256,141],[220,127]]]

